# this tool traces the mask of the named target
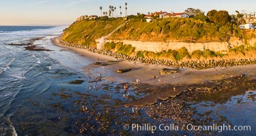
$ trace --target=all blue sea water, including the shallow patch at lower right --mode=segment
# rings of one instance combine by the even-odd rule
[[[87,83],[98,73],[104,77],[113,74],[115,69],[94,67],[92,63],[98,58],[94,60],[55,46],[51,39],[58,37],[65,28],[0,27],[0,135],[119,135],[124,132],[126,122],[161,123],[142,109],[139,115],[134,115],[130,107],[113,107],[132,101],[123,97],[127,92],[120,82],[103,79],[98,84]],[[31,41],[38,37],[41,38]],[[30,43],[51,51],[25,50]],[[84,67],[91,71],[84,71]],[[69,84],[74,80],[84,82]],[[144,96],[130,90],[132,99]],[[234,125],[252,126],[251,131],[225,131],[220,135],[255,135],[256,103],[247,98],[248,93],[232,97],[227,103],[206,101],[192,103],[191,107],[200,114],[210,111],[212,118],[224,116]],[[255,94],[255,91],[250,93]],[[106,131],[102,129],[104,125]],[[123,134],[152,135],[147,131]],[[155,134],[174,135],[175,132]]]

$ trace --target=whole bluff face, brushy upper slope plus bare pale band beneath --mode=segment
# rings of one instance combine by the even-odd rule
[[[237,27],[219,27],[213,22],[193,18],[169,18],[150,23],[132,18],[111,20],[83,20],[70,25],[62,39],[71,44],[102,49],[105,42],[130,44],[137,51],[161,52],[185,47],[194,50],[225,52],[236,46],[255,46],[256,30]]]

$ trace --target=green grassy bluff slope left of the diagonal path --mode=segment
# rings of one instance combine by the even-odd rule
[[[72,44],[96,47],[96,39],[109,35],[123,24],[123,18],[102,18],[99,20],[81,20],[74,22],[63,31],[62,39]]]

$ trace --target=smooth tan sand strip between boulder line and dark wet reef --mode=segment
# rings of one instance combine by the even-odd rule
[[[256,79],[256,65],[244,65],[244,66],[233,66],[233,67],[215,67],[210,69],[190,69],[190,68],[180,68],[179,73],[172,73],[169,75],[160,75],[160,69],[168,68],[162,65],[145,65],[143,63],[136,63],[126,60],[117,60],[112,56],[106,56],[102,54],[97,54],[89,52],[87,50],[73,48],[70,46],[63,46],[59,43],[59,38],[53,39],[53,42],[57,46],[62,46],[68,48],[76,53],[79,53],[89,60],[101,63],[108,63],[109,61],[118,61],[117,63],[111,63],[111,65],[98,66],[93,63],[88,67],[84,67],[87,71],[88,68],[93,67],[104,67],[104,69],[111,69],[111,71],[116,71],[117,69],[124,69],[131,67],[132,71],[126,73],[115,73],[110,77],[105,77],[106,80],[112,82],[134,82],[137,78],[141,80],[142,83],[159,85],[159,84],[203,84],[203,82],[214,82],[216,80],[222,80],[223,78],[230,78],[233,76],[244,74],[251,80]],[[104,75],[104,69],[98,71]],[[98,73],[94,73],[97,74]],[[156,77],[156,78],[154,78]]]

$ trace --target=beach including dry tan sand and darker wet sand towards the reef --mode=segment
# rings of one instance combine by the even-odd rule
[[[81,54],[87,57],[93,62],[100,61],[100,63],[108,63],[109,61],[118,61],[109,65],[91,65],[84,67],[83,70],[86,72],[91,67],[103,67],[102,71],[98,71],[105,75],[109,71],[113,71],[113,74],[104,79],[109,82],[129,83],[133,84],[137,78],[141,80],[141,90],[148,90],[150,96],[144,97],[144,99],[134,101],[134,103],[127,104],[125,106],[132,105],[148,105],[154,104],[158,99],[167,100],[170,97],[176,97],[186,90],[193,90],[195,88],[214,88],[216,84],[220,84],[223,80],[227,80],[231,77],[238,77],[244,75],[249,80],[256,80],[256,65],[242,65],[232,67],[214,67],[210,69],[190,69],[180,68],[179,73],[171,73],[169,75],[160,75],[160,69],[169,68],[162,65],[145,65],[143,63],[136,63],[127,60],[117,60],[113,56],[106,56],[90,52],[89,50],[74,48],[71,46],[64,46],[60,43],[59,37],[52,40],[56,46],[68,48],[73,52]],[[117,69],[123,69],[132,67],[132,71],[126,73],[116,73]],[[106,70],[108,69],[108,70]],[[94,71],[93,71],[94,73]],[[98,73],[94,73],[98,75]],[[156,77],[156,78],[154,78]],[[154,92],[154,89],[157,90]],[[242,88],[241,88],[242,89]],[[161,91],[163,90],[163,91]]]

